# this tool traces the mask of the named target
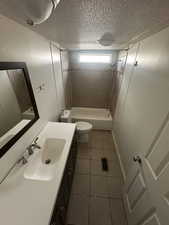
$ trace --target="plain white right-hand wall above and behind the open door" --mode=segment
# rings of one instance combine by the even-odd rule
[[[133,156],[146,156],[159,136],[168,120],[168,99],[169,28],[135,44],[128,53],[114,121],[126,173]]]

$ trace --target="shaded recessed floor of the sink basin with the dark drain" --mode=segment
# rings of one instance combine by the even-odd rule
[[[66,141],[64,139],[48,138],[45,141],[42,152],[42,163],[56,163],[60,159],[65,143]]]

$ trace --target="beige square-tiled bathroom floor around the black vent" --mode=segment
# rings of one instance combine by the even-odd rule
[[[101,158],[109,171],[102,170]],[[72,186],[68,225],[127,225],[122,202],[122,175],[109,131],[92,131],[80,144]]]

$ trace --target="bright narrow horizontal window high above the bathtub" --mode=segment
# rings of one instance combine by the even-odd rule
[[[79,54],[80,63],[104,63],[110,64],[112,60],[111,54]]]

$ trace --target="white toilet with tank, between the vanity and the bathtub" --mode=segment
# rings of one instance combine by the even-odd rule
[[[71,123],[71,110],[64,110],[60,116],[61,122]],[[85,121],[77,121],[76,129],[78,132],[78,142],[80,143],[88,143],[89,142],[89,134],[92,130],[93,125],[91,123]]]

